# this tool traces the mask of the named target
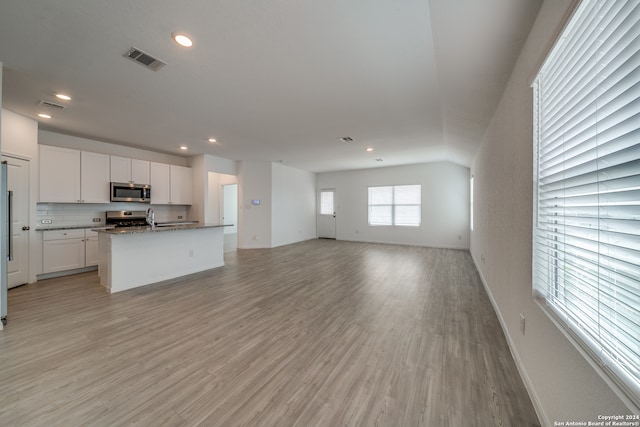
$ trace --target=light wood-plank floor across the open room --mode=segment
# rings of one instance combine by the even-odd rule
[[[114,295],[96,273],[10,290],[0,425],[538,425],[468,252],[225,258]]]

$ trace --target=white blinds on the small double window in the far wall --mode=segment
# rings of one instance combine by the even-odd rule
[[[369,187],[369,225],[419,226],[420,185]]]

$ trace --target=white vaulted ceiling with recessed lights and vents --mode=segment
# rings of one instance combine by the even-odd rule
[[[540,5],[3,0],[3,107],[41,129],[177,155],[313,172],[469,166]],[[132,46],[167,65],[128,60]],[[41,100],[65,108],[40,119]]]

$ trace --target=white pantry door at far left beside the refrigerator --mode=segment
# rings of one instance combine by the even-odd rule
[[[11,192],[11,249],[8,262],[8,287],[29,281],[29,162],[2,156],[7,162],[7,187]]]

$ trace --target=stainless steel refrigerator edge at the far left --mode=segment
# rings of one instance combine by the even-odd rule
[[[7,188],[7,162],[0,163],[0,320],[7,324],[8,261],[11,260],[11,191]]]

